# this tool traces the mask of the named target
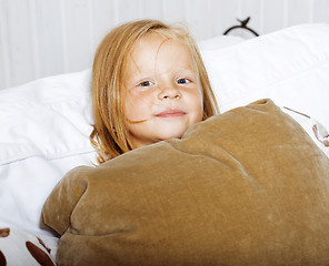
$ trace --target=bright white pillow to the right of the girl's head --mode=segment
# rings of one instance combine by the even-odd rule
[[[302,24],[202,51],[221,112],[262,98],[329,129],[329,24]]]

